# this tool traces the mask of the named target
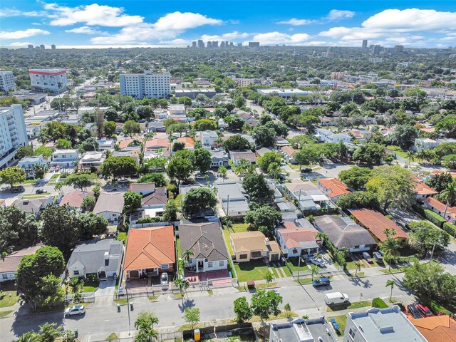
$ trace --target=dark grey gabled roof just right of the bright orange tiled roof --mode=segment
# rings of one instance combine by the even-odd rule
[[[228,259],[227,248],[218,222],[181,224],[179,237],[181,253],[190,249],[194,259],[207,259],[207,261]]]

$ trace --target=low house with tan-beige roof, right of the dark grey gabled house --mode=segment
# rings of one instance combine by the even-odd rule
[[[237,262],[266,258],[269,261],[279,261],[280,247],[275,241],[269,240],[261,232],[232,233],[229,242],[233,247]]]

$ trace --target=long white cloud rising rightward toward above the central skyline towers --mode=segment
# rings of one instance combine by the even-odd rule
[[[162,16],[155,24],[141,23],[135,26],[125,26],[116,34],[108,37],[94,37],[90,41],[95,44],[147,43],[176,38],[190,28],[203,25],[219,25],[222,22],[222,20],[208,18],[198,13],[174,12]]]

